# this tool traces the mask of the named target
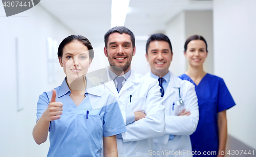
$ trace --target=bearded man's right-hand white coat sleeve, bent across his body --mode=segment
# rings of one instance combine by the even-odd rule
[[[127,131],[122,133],[123,142],[148,139],[165,133],[164,106],[157,80],[152,82],[148,89],[145,115],[145,118],[126,125]]]

